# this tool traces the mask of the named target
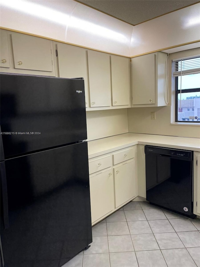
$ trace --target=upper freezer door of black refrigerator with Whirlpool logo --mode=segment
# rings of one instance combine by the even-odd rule
[[[1,74],[5,158],[87,139],[84,80]]]

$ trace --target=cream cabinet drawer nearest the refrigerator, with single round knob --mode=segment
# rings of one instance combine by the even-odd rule
[[[94,160],[89,162],[89,174],[93,173],[93,172],[98,172],[101,171],[103,169],[106,169],[108,167],[112,166],[112,157],[108,156],[108,157],[103,157],[100,158],[98,160]]]

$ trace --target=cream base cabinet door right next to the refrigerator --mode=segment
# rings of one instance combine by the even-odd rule
[[[114,209],[113,191],[112,170],[90,177],[92,223]]]

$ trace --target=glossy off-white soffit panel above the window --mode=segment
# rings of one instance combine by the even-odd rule
[[[133,27],[131,56],[200,40],[200,3]]]

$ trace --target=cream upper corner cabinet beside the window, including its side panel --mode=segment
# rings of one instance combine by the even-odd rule
[[[167,105],[166,60],[167,54],[163,52],[132,58],[133,107]]]

